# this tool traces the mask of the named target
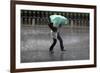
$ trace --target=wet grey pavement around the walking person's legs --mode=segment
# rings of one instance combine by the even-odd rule
[[[53,41],[48,26],[22,26],[21,63],[89,59],[88,27],[62,27],[60,34],[66,51],[60,50],[57,41],[54,53],[51,54],[49,47]]]

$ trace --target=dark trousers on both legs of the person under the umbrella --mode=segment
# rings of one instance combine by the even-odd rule
[[[57,39],[59,40],[59,42],[60,42],[60,48],[63,51],[64,50],[63,40],[62,40],[61,36],[59,35],[59,33],[57,34]],[[50,46],[50,49],[49,49],[50,51],[52,51],[53,48],[54,48],[54,46],[56,45],[57,39],[53,38],[53,43],[52,43],[52,45]]]

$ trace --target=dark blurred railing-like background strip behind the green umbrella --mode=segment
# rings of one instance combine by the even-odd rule
[[[89,13],[33,10],[21,10],[21,24],[23,26],[47,25],[49,23],[49,16],[53,14],[68,18],[70,27],[89,26]]]

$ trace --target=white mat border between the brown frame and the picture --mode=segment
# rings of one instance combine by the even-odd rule
[[[90,60],[20,63],[20,20],[21,20],[20,10],[21,9],[90,13]],[[16,69],[55,67],[55,66],[56,67],[74,66],[74,65],[88,65],[88,64],[94,64],[94,11],[93,9],[20,5],[20,4],[16,5]]]

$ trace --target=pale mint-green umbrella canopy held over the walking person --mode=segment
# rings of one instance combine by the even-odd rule
[[[60,26],[68,23],[68,19],[61,15],[51,15],[50,16],[51,23],[53,26]]]

